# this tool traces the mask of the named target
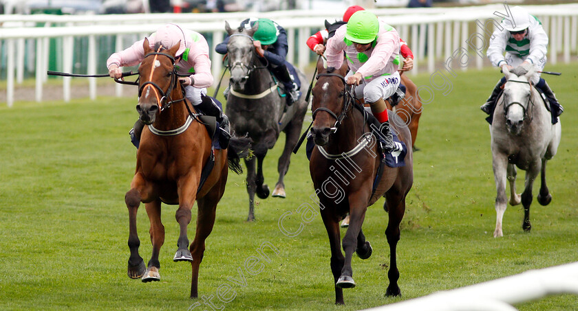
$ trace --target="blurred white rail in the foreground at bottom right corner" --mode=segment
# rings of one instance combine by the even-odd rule
[[[548,295],[578,295],[578,262],[495,279],[472,286],[436,292],[425,297],[371,308],[372,311],[517,310],[514,303]]]

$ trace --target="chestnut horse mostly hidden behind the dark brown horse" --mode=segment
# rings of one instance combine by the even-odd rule
[[[394,111],[409,128],[409,132],[411,133],[411,146],[413,146],[414,151],[416,151],[419,150],[419,148],[416,148],[416,138],[418,137],[418,126],[423,110],[422,101],[416,84],[414,84],[407,75],[403,74],[403,71],[400,72],[399,76],[402,84],[405,85],[405,97],[394,107],[392,107],[389,100],[386,100],[385,104],[387,104],[387,108]]]

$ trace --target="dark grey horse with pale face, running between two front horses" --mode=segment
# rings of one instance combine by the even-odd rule
[[[269,196],[269,188],[264,183],[263,161],[267,151],[279,138],[279,133],[286,134],[285,146],[277,171],[279,179],[272,196],[286,197],[283,178],[287,174],[291,151],[299,140],[303,118],[307,112],[307,102],[304,96],[286,106],[285,97],[279,94],[278,82],[268,71],[264,58],[259,58],[253,45],[253,34],[257,23],[250,29],[238,27],[231,29],[225,22],[225,30],[229,34],[227,43],[228,69],[231,72],[229,80],[230,93],[227,97],[226,114],[231,121],[232,130],[237,135],[248,135],[253,141],[252,148],[255,157],[245,159],[247,167],[247,193],[249,195],[249,213],[247,221],[255,220],[255,194],[259,198]],[[299,72],[301,81],[305,80]],[[306,93],[306,86],[301,84],[301,94]],[[255,162],[257,172],[255,173]]]

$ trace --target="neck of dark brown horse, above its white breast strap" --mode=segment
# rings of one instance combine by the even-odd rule
[[[336,133],[332,135],[327,145],[328,152],[341,154],[355,148],[365,133],[366,126],[363,114],[355,107],[350,108]]]

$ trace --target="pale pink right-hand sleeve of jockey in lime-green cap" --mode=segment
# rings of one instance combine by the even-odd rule
[[[387,66],[389,58],[395,51],[399,51],[399,36],[397,32],[384,32],[378,37],[377,45],[370,59],[357,72],[361,73],[363,77],[373,76]]]

